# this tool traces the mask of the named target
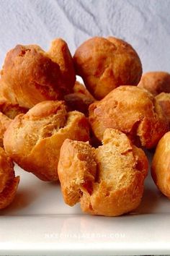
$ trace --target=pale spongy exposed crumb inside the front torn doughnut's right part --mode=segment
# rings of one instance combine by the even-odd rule
[[[115,136],[115,139],[105,141],[104,145],[96,150],[97,182],[106,182],[112,191],[127,187],[134,176],[133,149],[127,137],[121,137],[122,135],[120,138]]]

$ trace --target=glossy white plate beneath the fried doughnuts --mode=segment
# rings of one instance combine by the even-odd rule
[[[170,254],[170,201],[150,176],[138,210],[111,218],[87,216],[64,204],[59,184],[16,173],[17,196],[1,211],[0,255]]]

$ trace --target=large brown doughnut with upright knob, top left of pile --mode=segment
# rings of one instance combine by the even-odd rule
[[[0,97],[32,108],[41,101],[63,98],[75,80],[71,54],[62,39],[54,40],[48,52],[36,45],[18,45],[6,54]]]

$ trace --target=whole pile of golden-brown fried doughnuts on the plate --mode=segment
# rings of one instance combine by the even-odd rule
[[[151,173],[170,197],[169,125],[170,74],[142,75],[125,41],[90,38],[73,57],[61,38],[46,52],[18,45],[1,69],[0,209],[17,192],[17,163],[60,182],[66,204],[80,202],[85,213],[130,213],[148,174],[143,148],[156,148]]]

